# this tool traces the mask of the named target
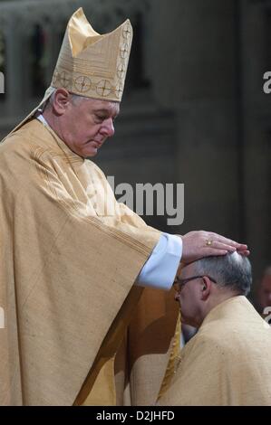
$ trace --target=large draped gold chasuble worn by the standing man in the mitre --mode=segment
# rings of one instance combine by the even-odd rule
[[[164,365],[174,335],[176,314],[166,318],[173,312],[169,295],[165,301],[161,291],[150,290],[141,298],[141,310],[135,309],[143,288],[133,283],[160,232],[117,203],[98,166],[73,154],[37,119],[1,144],[0,175],[0,307],[5,313],[0,404],[125,403],[126,396],[118,393],[128,385],[121,378],[121,355],[135,379],[129,389],[135,394],[136,380],[139,389],[143,385],[137,367],[151,363],[143,345],[153,354],[150,340],[157,341],[154,354],[161,354]],[[132,350],[131,360],[120,351],[115,366],[131,316],[122,345]],[[114,367],[119,367],[117,390]],[[153,367],[158,371],[160,364]],[[149,382],[150,401],[163,373]],[[129,395],[127,400],[140,399]]]

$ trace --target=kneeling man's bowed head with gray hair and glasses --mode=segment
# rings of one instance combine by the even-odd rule
[[[251,282],[250,262],[237,252],[190,263],[175,284],[182,322],[199,327],[208,312],[227,298],[247,296]]]

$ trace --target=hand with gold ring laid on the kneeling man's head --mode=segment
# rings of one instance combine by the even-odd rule
[[[189,231],[189,233],[179,237],[183,244],[181,261],[184,263],[212,255],[226,255],[235,250],[239,254],[249,255],[247,245],[231,241],[212,231]]]

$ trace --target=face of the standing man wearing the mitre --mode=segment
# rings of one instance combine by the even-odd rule
[[[83,158],[95,156],[107,137],[113,136],[113,121],[119,111],[117,102],[99,99],[70,101],[59,136],[77,155]]]

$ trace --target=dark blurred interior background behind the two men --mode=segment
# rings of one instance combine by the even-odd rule
[[[271,264],[271,0],[0,0],[0,138],[43,98],[80,6],[98,33],[134,28],[116,134],[94,161],[115,184],[185,184],[181,225],[146,222],[246,242],[256,302]]]

